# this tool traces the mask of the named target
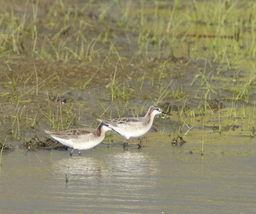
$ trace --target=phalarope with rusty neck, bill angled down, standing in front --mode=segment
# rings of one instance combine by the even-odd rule
[[[79,149],[79,154],[81,154],[81,149],[90,149],[102,142],[104,140],[105,133],[109,130],[116,132],[109,124],[102,122],[99,124],[97,129],[78,128],[61,132],[45,131],[45,133],[50,134],[52,138],[65,146],[73,148],[70,152],[70,156],[72,156],[74,149]]]

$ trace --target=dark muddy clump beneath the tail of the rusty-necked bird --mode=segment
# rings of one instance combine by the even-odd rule
[[[36,134],[30,141],[24,142],[23,145],[28,149],[60,149],[68,150],[67,146],[62,145],[61,143],[52,140],[51,138],[46,138],[46,140],[41,141]]]

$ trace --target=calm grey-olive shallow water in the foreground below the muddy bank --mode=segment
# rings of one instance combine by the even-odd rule
[[[142,149],[119,141],[73,157],[16,149],[2,157],[0,211],[255,213],[256,146],[235,140],[205,141],[203,156],[196,139],[173,147],[159,133],[148,133]]]

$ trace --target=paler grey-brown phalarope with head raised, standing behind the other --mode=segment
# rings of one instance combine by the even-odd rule
[[[96,117],[96,119],[105,124],[109,124],[115,132],[122,135],[125,138],[123,144],[125,146],[125,144],[128,144],[130,137],[140,137],[143,134],[146,134],[153,124],[154,116],[161,113],[168,114],[162,112],[158,106],[151,106],[144,117],[126,117],[117,119],[103,119]],[[172,116],[172,114],[168,115]]]

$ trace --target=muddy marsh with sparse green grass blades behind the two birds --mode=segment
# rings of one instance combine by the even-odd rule
[[[152,103],[177,112],[171,131],[185,139],[255,134],[255,1],[26,0],[0,15],[1,136],[67,129],[82,114],[96,127],[95,116]]]

